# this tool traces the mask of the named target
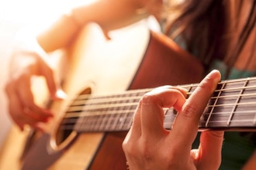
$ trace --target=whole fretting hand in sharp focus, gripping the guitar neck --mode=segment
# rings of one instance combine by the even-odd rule
[[[199,118],[219,81],[218,71],[209,73],[188,100],[185,90],[178,87],[159,87],[147,93],[123,141],[130,169],[219,168],[223,131],[202,132],[199,149],[192,150]],[[179,112],[171,131],[163,127],[163,107],[175,107]]]

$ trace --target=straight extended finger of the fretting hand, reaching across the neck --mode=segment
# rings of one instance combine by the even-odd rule
[[[172,128],[172,138],[175,138],[178,145],[191,147],[198,131],[199,118],[218,82],[220,82],[220,72],[213,70],[199,83],[185,102]]]

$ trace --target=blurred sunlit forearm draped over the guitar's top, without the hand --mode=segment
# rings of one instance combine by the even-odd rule
[[[37,41],[47,52],[60,49],[67,46],[88,22],[96,22],[107,32],[145,18],[148,14],[139,12],[140,8],[141,5],[133,0],[101,0],[74,8],[37,36]]]

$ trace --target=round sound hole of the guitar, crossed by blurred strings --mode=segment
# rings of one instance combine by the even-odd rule
[[[78,117],[82,112],[82,108],[85,106],[85,99],[89,97],[89,94],[92,93],[91,88],[83,90],[67,107],[67,110],[64,114],[64,117],[61,120],[61,123],[57,129],[56,134],[56,145],[61,145],[64,141],[69,141],[74,139],[74,136],[71,134],[76,134],[74,131],[74,126],[78,121]]]

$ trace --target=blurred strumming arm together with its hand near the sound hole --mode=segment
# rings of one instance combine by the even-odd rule
[[[54,114],[49,110],[38,107],[33,99],[30,89],[32,76],[46,78],[50,96],[53,99],[63,95],[61,85],[54,79],[54,71],[47,53],[67,46],[74,39],[79,30],[89,22],[96,22],[107,32],[130,25],[147,15],[155,15],[156,6],[161,0],[98,0],[91,5],[74,8],[71,12],[62,15],[54,25],[43,31],[40,35],[22,42],[28,48],[19,48],[13,52],[10,67],[9,82],[5,91],[9,98],[9,114],[12,120],[23,129],[25,124],[33,128],[42,129],[42,123],[47,122]],[[141,10],[143,8],[143,10]],[[16,86],[19,84],[19,86]]]

